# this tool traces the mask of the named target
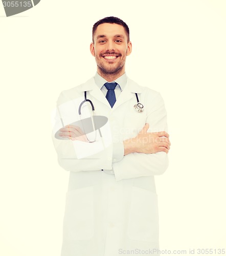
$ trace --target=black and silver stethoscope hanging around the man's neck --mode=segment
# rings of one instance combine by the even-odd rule
[[[139,102],[139,98],[138,98],[138,94],[137,94],[137,93],[135,93],[135,96],[136,96],[136,98],[137,98],[137,104],[135,104],[135,105],[133,106],[133,108],[134,108],[134,110],[137,111],[138,113],[142,113],[142,112],[144,111],[144,105]],[[92,106],[92,111],[93,111],[92,122],[93,122],[93,125],[94,125],[93,127],[94,127],[94,130],[95,130],[95,140],[89,140],[89,139],[87,138],[87,135],[86,135],[86,138],[87,138],[87,140],[88,140],[89,142],[95,142],[95,141],[96,141],[96,137],[97,137],[97,130],[96,130],[96,124],[95,124],[95,108],[94,108],[93,102],[92,102],[90,99],[87,99],[87,97],[86,97],[86,91],[84,92],[84,100],[80,103],[79,109],[78,109],[78,114],[79,114],[79,116],[80,116],[80,120],[81,120],[81,121],[82,121],[82,118],[81,118],[81,108],[82,108],[83,103],[85,103],[85,102],[89,102],[89,103],[91,104],[91,106]],[[100,129],[99,129],[99,133],[100,133]],[[102,137],[101,133],[100,133],[100,137]]]

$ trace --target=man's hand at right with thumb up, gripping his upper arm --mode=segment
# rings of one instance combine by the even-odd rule
[[[166,132],[147,133],[149,124],[146,123],[140,133],[131,139],[124,140],[124,155],[129,153],[169,152],[169,134]]]

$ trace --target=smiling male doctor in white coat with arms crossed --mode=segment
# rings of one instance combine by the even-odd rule
[[[70,171],[61,256],[157,254],[154,175],[165,172],[170,149],[164,102],[126,75],[132,45],[123,20],[99,20],[90,50],[97,73],[57,101],[53,141],[60,166]],[[93,116],[89,101],[81,105],[85,98],[95,118],[106,120],[98,132],[85,134],[80,125]]]

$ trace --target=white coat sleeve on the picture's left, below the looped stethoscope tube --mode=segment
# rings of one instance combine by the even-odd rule
[[[77,97],[77,93],[73,91],[63,91],[57,101],[52,139],[59,165],[72,172],[112,169],[112,143],[109,139],[111,136],[108,123],[100,129],[102,138],[97,136],[97,141],[93,143],[55,137],[61,127],[72,123],[73,118],[76,118],[73,115],[75,115],[74,113],[77,115],[78,108],[76,108],[77,104],[74,100],[76,97],[72,97],[72,95]],[[80,99],[78,101],[81,102]]]

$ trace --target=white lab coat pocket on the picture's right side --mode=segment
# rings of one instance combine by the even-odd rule
[[[132,187],[127,234],[132,240],[159,241],[157,195],[152,191]]]

